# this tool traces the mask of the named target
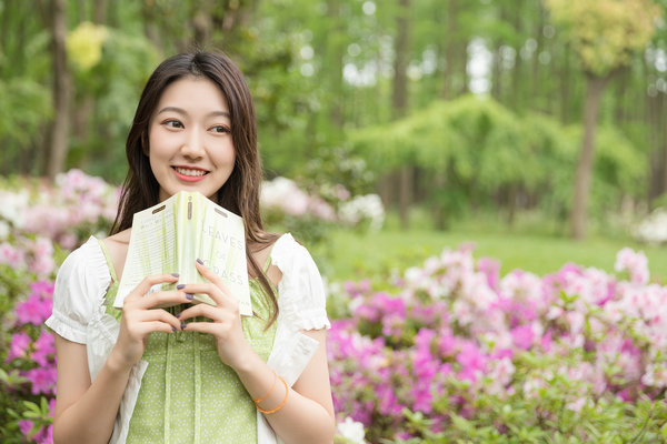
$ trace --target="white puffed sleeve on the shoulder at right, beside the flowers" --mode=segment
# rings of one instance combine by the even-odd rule
[[[282,272],[278,305],[295,330],[329,329],[322,278],[308,250],[291,234],[283,234],[271,250],[271,263]]]

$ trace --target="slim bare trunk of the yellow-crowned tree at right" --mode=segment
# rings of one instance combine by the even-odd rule
[[[583,240],[586,236],[586,212],[588,206],[588,194],[590,191],[590,179],[593,175],[595,154],[595,132],[598,121],[600,99],[605,85],[609,80],[606,77],[587,74],[586,77],[586,102],[584,103],[584,141],[575,174],[575,188],[571,210],[571,235],[574,239]]]

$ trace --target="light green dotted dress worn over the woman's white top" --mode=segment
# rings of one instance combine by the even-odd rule
[[[106,295],[107,313],[120,320],[120,310],[112,306],[118,279],[103,243],[100,244],[113,282]],[[269,261],[265,272],[268,265]],[[243,334],[267,361],[276,323],[265,330],[270,306],[256,279],[250,280],[250,299],[255,315],[241,319]],[[168,310],[176,314],[185,307]],[[191,320],[196,321],[205,319]],[[187,330],[150,333],[142,360],[148,362],[148,369],[126,443],[257,443],[255,404],[236,372],[220,361],[213,336]]]

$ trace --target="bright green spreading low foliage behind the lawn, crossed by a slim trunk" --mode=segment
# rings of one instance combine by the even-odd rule
[[[501,192],[521,192],[565,220],[570,206],[580,127],[563,128],[544,114],[517,115],[492,99],[436,101],[419,113],[350,135],[355,152],[378,175],[402,164],[442,178],[428,191],[451,219],[469,202],[490,204]],[[597,138],[590,209],[598,218],[624,198],[640,199],[647,158],[618,129]]]

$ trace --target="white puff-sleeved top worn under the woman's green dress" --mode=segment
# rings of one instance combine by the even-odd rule
[[[267,364],[291,386],[319,343],[302,331],[329,329],[320,273],[308,250],[291,234],[272,246],[271,263],[282,272],[278,284],[278,319],[273,347]],[[119,324],[106,313],[104,295],[111,273],[100,241],[94,236],[62,263],[53,291],[53,312],[46,324],[66,340],[86,344],[91,381],[104,365],[118,337]],[[148,363],[140,360],[130,372],[110,443],[125,443]],[[273,431],[257,413],[258,443],[277,443]]]

